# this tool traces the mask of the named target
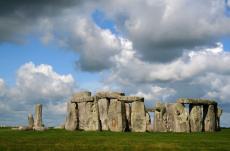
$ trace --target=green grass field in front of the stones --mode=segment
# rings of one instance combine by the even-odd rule
[[[230,150],[230,129],[215,133],[45,132],[0,129],[0,151]]]

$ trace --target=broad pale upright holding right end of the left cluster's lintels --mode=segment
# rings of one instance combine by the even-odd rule
[[[144,102],[135,101],[131,107],[131,127],[133,132],[146,131]]]

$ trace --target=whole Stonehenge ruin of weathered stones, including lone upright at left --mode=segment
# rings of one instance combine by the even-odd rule
[[[214,132],[220,130],[222,109],[207,99],[180,98],[146,108],[144,98],[122,92],[75,93],[67,103],[66,130],[114,132]],[[36,106],[34,125],[41,125]],[[150,112],[154,112],[151,117]],[[40,120],[37,120],[40,119]]]

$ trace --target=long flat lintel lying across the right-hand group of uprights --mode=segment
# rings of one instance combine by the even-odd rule
[[[207,100],[207,99],[188,99],[188,98],[180,98],[176,101],[177,103],[182,103],[182,104],[200,104],[200,105],[209,105],[213,104],[216,105],[217,102],[213,100]]]

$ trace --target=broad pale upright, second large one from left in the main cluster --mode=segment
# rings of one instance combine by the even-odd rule
[[[94,102],[87,102],[85,106],[85,131],[99,131],[99,111],[97,100]]]

